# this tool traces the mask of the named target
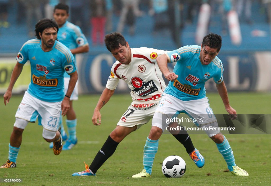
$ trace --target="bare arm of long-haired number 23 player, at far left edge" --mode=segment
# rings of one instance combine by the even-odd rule
[[[4,104],[5,105],[7,105],[7,103],[9,102],[9,99],[12,96],[13,86],[16,83],[18,77],[20,76],[23,66],[24,66],[24,64],[17,62],[14,69],[12,70],[9,86],[8,86],[6,93],[4,94]]]

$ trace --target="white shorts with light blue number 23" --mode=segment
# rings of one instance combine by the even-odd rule
[[[31,96],[27,91],[24,93],[15,117],[35,122],[49,131],[57,131],[61,117],[61,102],[45,102]]]

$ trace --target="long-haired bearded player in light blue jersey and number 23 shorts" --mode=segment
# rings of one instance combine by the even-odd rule
[[[70,96],[78,79],[74,58],[70,50],[56,40],[58,26],[51,19],[42,19],[35,26],[37,39],[28,40],[17,55],[17,63],[12,71],[5,105],[12,95],[12,88],[29,60],[31,82],[22,98],[10,137],[8,161],[0,168],[16,167],[16,160],[22,143],[22,133],[28,122],[43,126],[42,136],[53,142],[55,155],[62,150],[59,128],[61,114],[65,116],[70,108]],[[64,73],[70,75],[69,88],[64,94]]]

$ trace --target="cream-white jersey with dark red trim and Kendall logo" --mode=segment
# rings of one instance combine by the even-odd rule
[[[111,68],[106,87],[116,89],[120,79],[131,89],[133,104],[150,104],[161,99],[166,85],[156,58],[166,53],[153,48],[131,48],[131,62],[128,65],[116,61]]]

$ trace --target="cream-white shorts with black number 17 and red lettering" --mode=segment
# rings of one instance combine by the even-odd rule
[[[128,107],[128,110],[122,115],[117,125],[124,127],[137,126],[137,129],[148,123],[153,118],[159,102],[149,104],[134,104]]]

